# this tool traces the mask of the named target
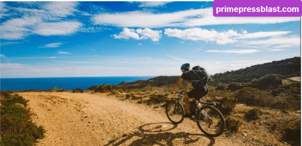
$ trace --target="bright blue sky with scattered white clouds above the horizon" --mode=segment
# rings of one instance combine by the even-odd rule
[[[210,74],[300,57],[300,17],[214,17],[213,2],[0,2],[0,78]]]

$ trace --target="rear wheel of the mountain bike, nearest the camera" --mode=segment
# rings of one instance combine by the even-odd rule
[[[198,111],[196,119],[199,129],[207,136],[220,136],[225,129],[223,115],[212,106],[202,107],[201,111]]]

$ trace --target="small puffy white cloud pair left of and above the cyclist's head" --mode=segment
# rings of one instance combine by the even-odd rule
[[[162,31],[154,31],[149,28],[145,29],[133,29],[133,28],[123,28],[123,31],[119,35],[114,34],[114,38],[134,38],[137,40],[151,38],[152,41],[159,41],[161,38]]]

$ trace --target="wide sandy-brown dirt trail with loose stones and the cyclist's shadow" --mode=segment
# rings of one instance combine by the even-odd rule
[[[70,92],[19,93],[46,129],[37,145],[246,145],[224,135],[204,135],[191,120],[169,122],[163,108],[150,108],[105,94]],[[249,144],[247,144],[249,145]]]

